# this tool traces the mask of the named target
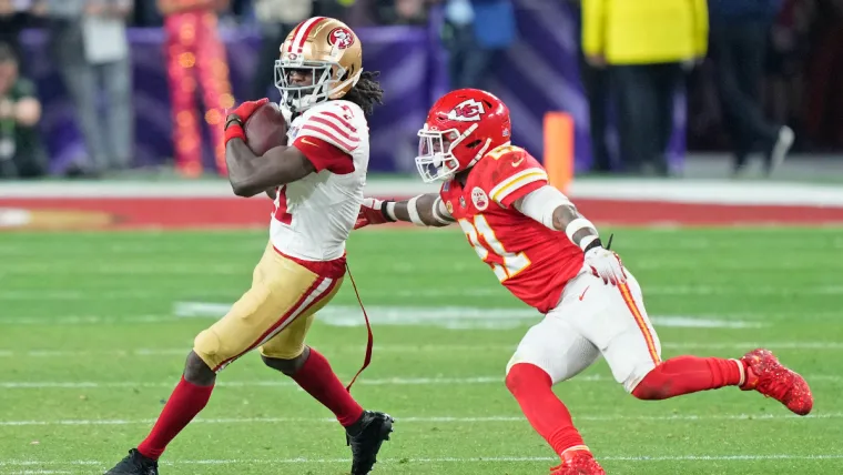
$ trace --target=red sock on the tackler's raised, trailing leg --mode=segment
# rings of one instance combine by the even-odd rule
[[[743,363],[719,357],[677,356],[656,366],[632,391],[639,400],[667,400],[698,391],[737,386],[745,374]]]

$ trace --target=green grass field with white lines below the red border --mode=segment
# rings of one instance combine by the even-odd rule
[[[612,231],[664,357],[766,345],[809,380],[816,402],[805,418],[731,387],[641,402],[600,361],[557,393],[608,473],[843,473],[841,230]],[[263,231],[0,234],[0,473],[93,474],[121,458],[213,321],[202,314],[216,311],[194,306],[180,317],[177,304],[236,300],[264,245]],[[556,465],[502,384],[539,315],[498,285],[459,233],[355,233],[349,263],[376,340],[354,394],[397,420],[375,473],[545,474]],[[345,381],[366,338],[348,325],[362,322],[349,284],[309,335]],[[162,474],[346,473],[331,414],[256,355],[219,382]]]

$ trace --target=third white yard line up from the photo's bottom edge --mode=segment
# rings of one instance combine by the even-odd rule
[[[809,382],[840,382],[843,375],[832,374],[813,374],[805,375]],[[571,383],[605,383],[615,380],[611,376],[588,375],[577,376],[567,381]],[[47,390],[47,388],[114,388],[114,387],[173,387],[174,382],[140,382],[140,381],[0,381],[0,388],[4,390]],[[494,376],[474,376],[474,377],[387,377],[359,380],[356,384],[364,386],[435,386],[435,385],[477,385],[477,384],[504,384],[504,374]],[[261,380],[261,381],[221,381],[216,383],[219,387],[298,387],[294,382],[287,380]]]

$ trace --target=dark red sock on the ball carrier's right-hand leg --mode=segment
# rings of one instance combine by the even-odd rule
[[[363,415],[363,407],[348,394],[334,374],[328,361],[316,350],[311,348],[311,355],[293,380],[316,401],[329,408],[343,427],[354,424]]]

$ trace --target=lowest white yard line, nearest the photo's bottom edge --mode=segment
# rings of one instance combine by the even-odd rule
[[[840,459],[843,454],[771,454],[771,455],[608,455],[599,456],[600,461],[617,462],[753,462],[753,461],[823,461]],[[488,457],[431,457],[431,458],[383,458],[378,464],[489,464],[512,462],[558,462],[558,457],[518,457],[518,456],[488,456]],[[26,467],[38,465],[64,465],[64,466],[105,466],[113,463],[105,461],[0,461],[0,467]],[[347,464],[348,458],[227,458],[227,459],[187,459],[187,461],[162,461],[161,465],[299,465],[299,464]]]

